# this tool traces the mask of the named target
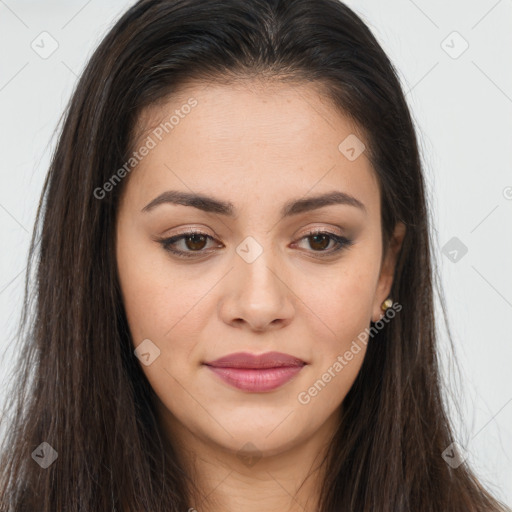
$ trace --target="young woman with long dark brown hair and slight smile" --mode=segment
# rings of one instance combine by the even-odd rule
[[[443,405],[404,95],[342,3],[135,4],[39,224],[1,510],[507,510]]]

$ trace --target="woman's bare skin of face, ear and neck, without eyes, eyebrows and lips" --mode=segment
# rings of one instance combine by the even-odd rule
[[[134,348],[149,339],[160,350],[141,368],[162,429],[199,486],[191,508],[313,511],[321,455],[366,345],[309,403],[297,397],[381,318],[404,226],[383,258],[374,170],[365,152],[350,161],[338,149],[359,131],[311,84],[189,84],[143,113],[135,147],[191,97],[197,106],[124,183],[116,255]],[[236,216],[174,204],[141,211],[167,190],[230,201]],[[335,204],[280,218],[287,201],[333,190],[366,211]],[[193,258],[158,241],[188,228],[213,237],[174,245]],[[333,253],[335,240],[308,238],[314,228],[353,244]],[[263,251],[250,263],[236,252],[248,236]],[[279,351],[308,364],[260,393],[231,387],[202,364],[240,351]],[[251,455],[247,443],[252,461],[241,456]]]

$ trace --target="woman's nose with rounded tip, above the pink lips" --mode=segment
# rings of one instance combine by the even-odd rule
[[[251,263],[235,255],[234,265],[219,302],[222,320],[233,327],[255,332],[288,325],[295,312],[295,294],[270,251],[263,251]]]

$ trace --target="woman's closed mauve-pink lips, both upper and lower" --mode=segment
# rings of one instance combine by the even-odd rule
[[[225,383],[250,392],[272,391],[292,379],[307,364],[281,352],[239,352],[204,363]]]

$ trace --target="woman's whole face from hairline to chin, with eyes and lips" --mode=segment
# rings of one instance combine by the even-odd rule
[[[312,85],[254,82],[190,85],[140,127],[116,255],[166,428],[233,453],[325,434],[398,250],[382,252],[363,136]]]

